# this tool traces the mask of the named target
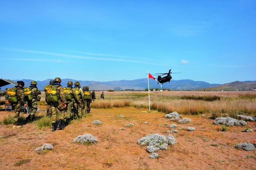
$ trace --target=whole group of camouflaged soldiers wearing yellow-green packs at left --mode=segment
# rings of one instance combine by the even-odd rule
[[[14,107],[14,122],[13,128],[20,128],[18,124],[18,118],[20,116],[20,111],[22,105],[27,107],[26,101],[30,109],[30,114],[26,117],[27,121],[34,121],[35,113],[37,111],[38,105],[37,101],[40,101],[40,90],[36,87],[36,81],[30,83],[29,88],[23,89],[24,82],[18,81],[18,85],[14,88],[7,90],[8,100]],[[90,104],[95,98],[95,92],[89,91],[88,86],[80,86],[79,82],[74,83],[69,81],[67,87],[62,88],[60,85],[61,79],[56,77],[54,80],[50,80],[50,83],[45,86],[44,92],[46,96],[47,110],[46,115],[51,115],[52,131],[57,129],[63,129],[69,124],[72,109],[74,111],[74,118],[79,119],[82,117],[83,109],[86,113],[90,113]],[[103,96],[104,97],[104,96]],[[60,112],[59,121],[56,121],[57,109]],[[66,116],[65,116],[66,113]]]

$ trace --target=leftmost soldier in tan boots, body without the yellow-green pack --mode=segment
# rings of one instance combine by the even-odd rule
[[[20,111],[21,111],[21,105],[24,104],[25,107],[27,107],[25,96],[24,96],[24,90],[23,86],[25,85],[23,81],[18,81],[18,86],[15,86],[17,88],[16,95],[18,99],[18,103],[12,104],[14,107],[14,119],[13,119],[13,127],[12,128],[20,128],[21,126],[18,125],[18,119],[20,117]]]

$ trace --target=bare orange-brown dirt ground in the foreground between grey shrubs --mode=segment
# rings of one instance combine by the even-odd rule
[[[208,118],[210,114],[183,115],[192,122],[180,125],[164,118],[165,113],[145,111],[133,107],[92,109],[92,116],[74,120],[64,130],[55,132],[50,128],[40,130],[34,123],[20,129],[0,125],[0,169],[256,170],[256,152],[234,147],[239,142],[256,140],[256,131],[244,133],[246,127],[240,126],[230,127],[226,132],[217,131],[220,126],[213,125],[214,120]],[[13,113],[0,111],[0,121],[8,114]],[[94,120],[102,121],[102,125],[92,124]],[[134,127],[120,130],[128,123],[134,123]],[[150,159],[146,146],[138,145],[137,140],[151,133],[168,135],[173,123],[178,125],[179,133],[172,133],[178,143],[159,150],[158,159]],[[255,130],[255,122],[248,125]],[[180,130],[180,127],[194,127],[196,131]],[[72,143],[85,133],[97,137],[98,143],[92,146]],[[52,144],[54,149],[34,151],[44,143]],[[25,163],[18,166],[20,161]]]

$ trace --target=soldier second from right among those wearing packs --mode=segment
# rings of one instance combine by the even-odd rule
[[[82,118],[82,102],[84,99],[84,93],[82,88],[80,88],[80,83],[79,82],[75,82],[75,87],[74,89],[76,90],[76,94],[78,95],[78,97],[80,96],[80,103],[75,102],[74,103],[74,114],[75,114],[75,119],[76,117],[78,118]]]

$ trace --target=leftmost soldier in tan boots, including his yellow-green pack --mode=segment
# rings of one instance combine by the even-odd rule
[[[14,107],[14,119],[13,119],[13,127],[12,128],[20,128],[21,126],[18,124],[18,119],[20,117],[21,105],[24,104],[27,107],[23,86],[25,85],[23,81],[18,81],[18,86],[14,88],[9,88],[7,90],[7,100]]]

